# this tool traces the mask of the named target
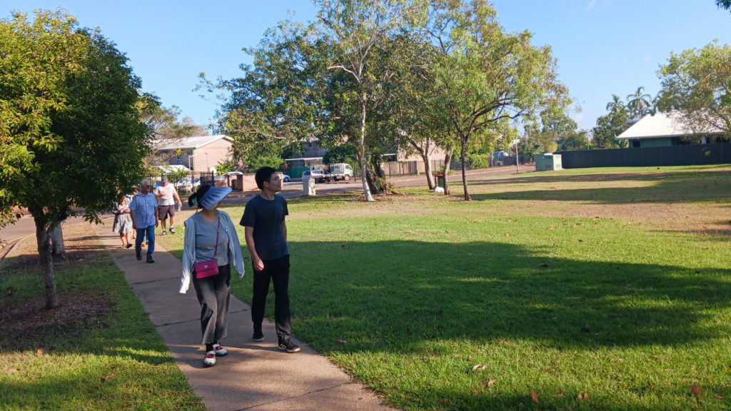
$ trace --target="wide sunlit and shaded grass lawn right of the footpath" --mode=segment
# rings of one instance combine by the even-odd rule
[[[658,210],[720,225],[730,173],[676,168],[487,178],[471,203],[290,200],[294,332],[400,409],[728,410],[728,237],[673,230]],[[589,214],[606,204],[613,218]],[[160,238],[178,256],[181,240]],[[247,270],[232,281],[243,301]]]

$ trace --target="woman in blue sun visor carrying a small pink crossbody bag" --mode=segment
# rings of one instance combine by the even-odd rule
[[[200,303],[200,328],[205,344],[203,364],[213,366],[216,357],[228,355],[219,341],[226,336],[230,300],[231,266],[243,277],[243,257],[231,217],[216,210],[230,187],[201,186],[188,204],[200,209],[183,224],[183,275],[179,292],[186,293],[193,282]]]

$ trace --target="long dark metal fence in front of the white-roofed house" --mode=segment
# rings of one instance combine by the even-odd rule
[[[564,168],[663,167],[731,163],[731,143],[559,151]]]

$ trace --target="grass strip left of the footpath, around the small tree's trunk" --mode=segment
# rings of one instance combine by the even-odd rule
[[[94,229],[80,224],[64,233],[60,309],[38,309],[32,239],[0,270],[0,410],[205,410]],[[92,240],[75,245],[80,237]]]

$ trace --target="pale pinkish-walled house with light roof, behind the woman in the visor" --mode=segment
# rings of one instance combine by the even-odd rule
[[[231,137],[199,135],[172,140],[158,140],[156,149],[170,165],[183,165],[192,171],[213,171],[220,162],[231,158]]]

